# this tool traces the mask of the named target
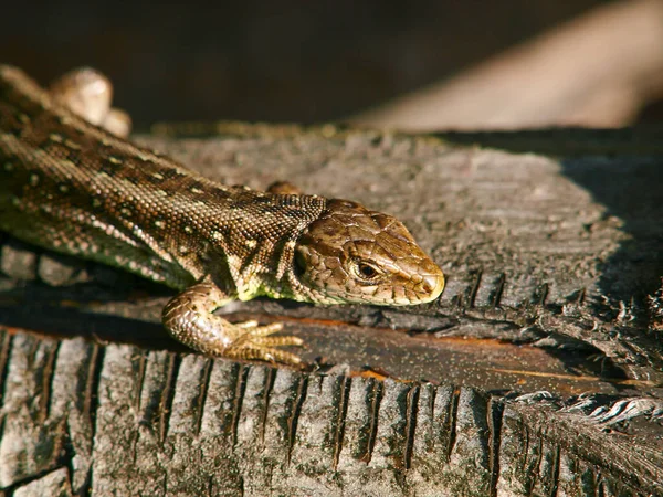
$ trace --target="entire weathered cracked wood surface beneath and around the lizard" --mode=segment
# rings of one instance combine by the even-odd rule
[[[0,488],[663,493],[663,134],[192,130],[221,135],[140,139],[225,182],[393,213],[448,289],[224,310],[285,318],[320,358],[301,374],[182,356],[156,325],[168,290],[6,241],[2,271],[35,281],[0,278]]]

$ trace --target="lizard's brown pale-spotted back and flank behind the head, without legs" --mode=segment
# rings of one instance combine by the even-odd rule
[[[295,241],[326,202],[215,183],[0,66],[0,230],[18,239],[175,288],[214,274],[240,298],[256,285],[278,296]]]

